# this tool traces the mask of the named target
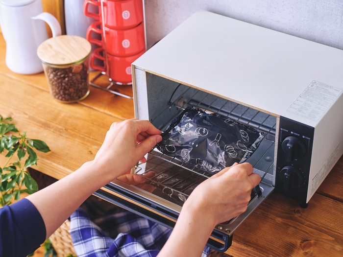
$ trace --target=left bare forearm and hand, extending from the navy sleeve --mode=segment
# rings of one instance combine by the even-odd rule
[[[131,169],[162,140],[147,120],[116,122],[106,134],[95,159],[38,192],[27,196],[43,218],[48,238],[92,193]],[[149,175],[149,174],[147,174]],[[138,175],[137,175],[138,176]],[[136,183],[142,183],[139,176]],[[86,185],[86,186],[85,186]],[[65,199],[68,198],[68,201]]]

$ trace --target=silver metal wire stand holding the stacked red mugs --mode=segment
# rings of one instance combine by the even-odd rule
[[[105,55],[106,72],[104,72],[104,71],[99,72],[99,74],[97,76],[95,76],[89,82],[89,85],[91,85],[91,86],[93,86],[95,88],[104,90],[104,91],[109,92],[109,93],[120,95],[120,96],[123,96],[123,97],[128,98],[128,99],[133,99],[132,96],[129,96],[129,95],[126,95],[126,94],[119,93],[119,92],[111,90],[111,87],[114,86],[114,84],[116,84],[116,85],[132,85],[132,83],[123,84],[123,83],[120,83],[120,82],[116,82],[116,81],[112,80],[109,76],[107,76],[107,74],[109,74],[109,70],[108,70],[107,50],[106,50],[106,33],[105,33],[105,25],[104,25],[105,24],[105,18],[104,18],[104,14],[103,14],[104,13],[103,12],[103,0],[100,0],[100,6],[101,6],[102,37],[103,37],[103,41],[104,41],[103,49],[104,49],[104,55]],[[108,78],[108,81],[110,82],[110,85],[108,85],[106,88],[101,87],[101,86],[99,86],[99,85],[97,85],[95,83],[95,80],[97,80],[102,75],[106,75],[106,77]]]

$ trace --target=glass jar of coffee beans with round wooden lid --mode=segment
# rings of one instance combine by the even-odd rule
[[[50,93],[56,100],[72,103],[88,95],[91,48],[86,39],[71,35],[49,38],[38,47]]]

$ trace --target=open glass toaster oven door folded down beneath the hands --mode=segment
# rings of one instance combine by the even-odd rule
[[[172,229],[183,203],[196,186],[211,175],[153,150],[147,154],[147,163],[137,164],[131,172],[95,194]],[[230,247],[233,232],[266,199],[273,187],[260,183],[260,189],[260,195],[252,190],[251,200],[243,214],[216,226],[207,243],[210,248],[224,252]]]

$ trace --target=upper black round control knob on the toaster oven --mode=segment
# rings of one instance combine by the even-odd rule
[[[286,153],[286,162],[288,163],[306,154],[305,144],[293,136],[289,136],[282,141],[282,150]]]

